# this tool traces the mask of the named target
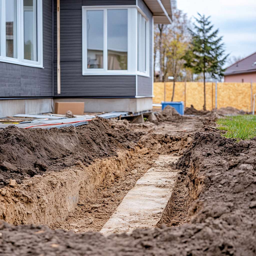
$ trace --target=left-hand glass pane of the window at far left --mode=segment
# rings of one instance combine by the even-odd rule
[[[6,56],[17,58],[17,1],[5,1]]]

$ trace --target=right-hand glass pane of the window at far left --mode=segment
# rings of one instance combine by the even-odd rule
[[[24,0],[24,59],[37,61],[36,0]]]

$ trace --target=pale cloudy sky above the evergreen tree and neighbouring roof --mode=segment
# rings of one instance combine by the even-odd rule
[[[177,8],[197,16],[211,16],[230,56],[246,57],[256,51],[256,0],[177,0]]]

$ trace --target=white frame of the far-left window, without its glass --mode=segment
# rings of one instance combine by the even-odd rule
[[[24,59],[23,0],[17,0],[17,58],[6,56],[5,0],[0,0],[0,62],[43,68],[42,0],[37,0],[37,61]]]

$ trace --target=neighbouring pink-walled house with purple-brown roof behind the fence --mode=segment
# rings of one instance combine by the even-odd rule
[[[225,71],[224,82],[256,82],[256,52],[237,61]]]

